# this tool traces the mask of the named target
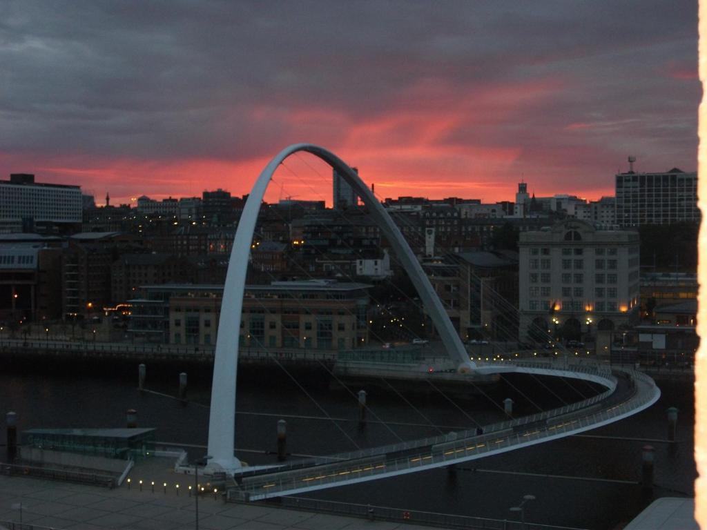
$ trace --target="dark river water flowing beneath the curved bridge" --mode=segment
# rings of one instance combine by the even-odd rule
[[[204,367],[148,365],[148,389],[174,395],[177,374],[189,372],[189,404],[136,389],[134,365],[67,367],[12,365],[0,371],[0,412],[16,411],[18,429],[123,427],[125,411],[136,408],[139,426],[157,428],[157,440],[206,444],[211,377]],[[236,418],[237,453],[250,464],[274,462],[276,422],[288,421],[288,452],[322,455],[360,447],[437,435],[430,421],[447,432],[474,422],[503,418],[501,402],[510,396],[516,413],[537,412],[578,401],[597,389],[584,382],[514,375],[468,395],[442,395],[432,387],[421,391],[366,387],[369,414],[360,430],[355,392],[334,390],[330,376],[320,372],[294,374],[298,384],[278,367],[242,368],[239,372]],[[300,386],[303,388],[300,388]],[[509,508],[523,495],[528,522],[588,529],[614,529],[629,521],[651,498],[692,496],[693,384],[689,380],[658,380],[662,396],[647,411],[585,433],[604,437],[660,439],[667,437],[666,409],[679,408],[677,443],[653,443],[655,488],[647,497],[636,484],[641,478],[642,440],[567,437],[457,466],[454,473],[434,469],[305,494],[326,500],[392,506],[495,519],[515,519]],[[303,390],[304,389],[304,390]],[[306,391],[306,394],[305,394]],[[307,395],[309,394],[309,396]],[[317,406],[312,399],[317,402]],[[409,401],[409,403],[406,402]],[[453,403],[452,403],[453,402]],[[325,413],[322,412],[322,408]],[[341,429],[332,424],[330,416]],[[4,422],[0,428],[5,440]],[[344,431],[344,434],[341,431]],[[391,432],[392,431],[392,432]],[[395,432],[395,434],[394,434]],[[265,452],[271,452],[266,454]],[[200,457],[205,449],[190,449]],[[4,452],[0,452],[3,454]],[[560,476],[560,477],[558,477]],[[592,480],[587,480],[592,479]],[[599,479],[599,480],[595,480]],[[607,480],[608,479],[608,480]],[[612,481],[629,481],[612,482]]]

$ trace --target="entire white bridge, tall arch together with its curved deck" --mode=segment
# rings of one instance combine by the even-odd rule
[[[371,218],[378,224],[412,282],[431,317],[445,350],[460,374],[503,372],[583,379],[602,385],[605,391],[590,399],[544,411],[533,416],[486,425],[483,429],[450,432],[448,435],[375,447],[329,457],[307,459],[294,464],[249,469],[233,454],[235,447],[235,395],[238,341],[243,308],[245,278],[255,232],[257,214],[272,175],[293,153],[305,151],[329,163],[361,197]],[[333,153],[308,143],[281,151],[265,167],[250,192],[238,224],[223,291],[218,338],[214,357],[214,381],[209,417],[208,471],[226,471],[237,488],[229,497],[258,500],[336,485],[371,481],[387,476],[450,466],[464,461],[520,449],[533,444],[574,435],[613,423],[655,403],[660,390],[650,377],[633,370],[612,370],[596,363],[568,363],[566,358],[548,362],[474,363],[469,360],[460,337],[419,261],[395,222],[375,199],[356,172]]]

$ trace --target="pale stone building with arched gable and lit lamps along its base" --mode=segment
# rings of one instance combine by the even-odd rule
[[[519,242],[520,339],[580,339],[638,318],[638,232],[565,220]]]

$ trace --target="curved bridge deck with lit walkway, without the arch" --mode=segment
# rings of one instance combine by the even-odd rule
[[[607,391],[562,408],[486,426],[480,435],[477,430],[453,432],[270,469],[243,469],[236,475],[239,488],[230,489],[228,498],[292,495],[489,457],[614,423],[643,411],[660,397],[653,379],[641,372],[617,370],[612,374],[603,366],[558,364],[494,364],[481,365],[479,370],[585,379],[602,384]]]

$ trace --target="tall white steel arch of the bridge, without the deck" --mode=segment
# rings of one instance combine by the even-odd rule
[[[370,216],[378,224],[393,250],[401,261],[405,271],[411,277],[420,300],[436,326],[440,338],[453,360],[459,361],[460,370],[473,370],[476,365],[469,360],[464,345],[454,329],[447,313],[435,293],[427,275],[417,261],[414,253],[404,240],[402,233],[390,218],[385,208],[375,199],[356,172],[346,165],[337,155],[325,148],[310,143],[296,143],[284,148],[270,160],[260,173],[248,196],[243,213],[235,233],[233,249],[230,253],[226,284],[223,287],[221,316],[218,320],[218,336],[214,355],[214,379],[211,385],[211,411],[209,413],[209,462],[211,469],[235,471],[240,468],[240,461],[234,457],[235,445],[235,382],[238,370],[238,340],[240,319],[243,310],[243,294],[250,246],[257,221],[260,204],[268,184],[278,166],[290,155],[304,151],[311,153],[331,165],[349,184],[363,204],[368,206]]]

